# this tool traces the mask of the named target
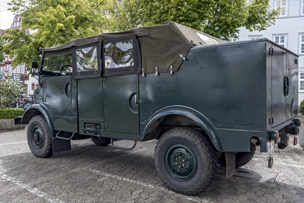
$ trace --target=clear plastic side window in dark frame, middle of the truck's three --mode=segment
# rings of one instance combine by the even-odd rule
[[[100,77],[101,42],[72,48],[73,79]]]

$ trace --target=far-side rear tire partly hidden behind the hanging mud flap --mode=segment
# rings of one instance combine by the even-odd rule
[[[250,143],[250,152],[237,152],[236,153],[236,168],[247,164],[253,157],[255,153],[256,146]],[[226,167],[226,157],[225,153],[222,153],[218,158],[218,163],[221,166]]]

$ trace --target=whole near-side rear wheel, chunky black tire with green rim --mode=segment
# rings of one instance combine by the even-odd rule
[[[217,167],[209,140],[199,131],[186,127],[173,128],[163,134],[155,148],[155,165],[169,189],[186,195],[205,190]]]

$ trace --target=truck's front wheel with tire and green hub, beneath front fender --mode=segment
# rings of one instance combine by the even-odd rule
[[[36,157],[45,158],[53,155],[48,124],[42,115],[30,119],[27,126],[27,144]]]

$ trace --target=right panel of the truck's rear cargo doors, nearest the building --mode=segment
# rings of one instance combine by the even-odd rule
[[[297,57],[291,53],[286,53],[286,120],[296,115],[298,106],[298,72]]]

